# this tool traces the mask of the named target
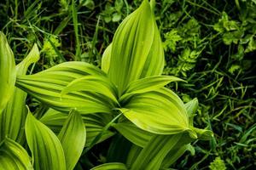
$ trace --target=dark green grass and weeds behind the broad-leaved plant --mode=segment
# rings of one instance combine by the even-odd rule
[[[31,68],[33,72],[65,60],[83,60],[99,66],[120,21],[141,1],[91,2],[5,0],[0,3],[0,31],[7,35],[17,54],[16,63],[37,42],[42,59]],[[256,62],[253,59],[256,13],[250,10],[256,7],[255,1],[156,2],[156,19],[166,48],[165,73],[188,82],[170,88],[177,89],[184,102],[197,97],[200,110],[195,116],[196,127],[207,125],[214,132],[210,143],[195,142],[195,156],[186,154],[175,168],[208,169],[220,157],[228,169],[252,169],[256,166]],[[224,27],[224,31],[216,31],[214,26],[223,12],[229,16],[224,26],[236,23],[239,28]],[[120,20],[115,21],[113,14],[119,14]],[[228,37],[241,30],[242,36]],[[46,43],[49,47],[43,50]],[[247,52],[247,48],[251,50]],[[39,104],[28,99],[28,105],[36,109]],[[96,162],[104,162],[106,150],[94,150]]]

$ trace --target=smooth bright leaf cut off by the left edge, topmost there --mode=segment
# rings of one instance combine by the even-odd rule
[[[14,93],[15,79],[15,56],[5,35],[0,31],[0,114]]]

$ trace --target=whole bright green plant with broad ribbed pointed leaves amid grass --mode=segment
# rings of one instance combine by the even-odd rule
[[[37,46],[15,66],[0,34],[0,169],[73,169],[110,137],[106,163],[85,168],[164,169],[193,152],[192,141],[211,139],[211,131],[193,127],[197,100],[184,105],[164,87],[182,80],[160,76],[164,52],[153,11],[154,1],[144,0],[125,18],[102,70],[73,61],[27,76]],[[50,109],[32,114],[26,93]]]

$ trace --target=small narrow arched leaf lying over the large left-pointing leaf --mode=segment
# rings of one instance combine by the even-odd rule
[[[65,87],[61,94],[70,92],[92,92],[104,95],[106,98],[112,99],[114,103],[118,104],[117,89],[107,77],[86,76],[75,79]]]

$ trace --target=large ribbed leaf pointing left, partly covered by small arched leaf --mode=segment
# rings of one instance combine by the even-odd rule
[[[66,62],[31,76],[17,77],[16,86],[57,111],[67,113],[70,109],[77,108],[82,115],[111,112],[115,105],[102,94],[73,92],[61,96],[61,91],[67,84],[90,75],[106,77],[105,73],[94,65]]]

